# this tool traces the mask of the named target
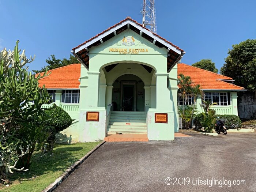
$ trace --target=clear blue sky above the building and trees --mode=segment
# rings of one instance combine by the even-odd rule
[[[157,32],[186,51],[182,63],[212,59],[219,69],[228,49],[256,38],[255,0],[155,0]],[[30,70],[45,59],[69,58],[70,50],[130,16],[142,23],[142,0],[0,0],[0,48],[19,39]]]

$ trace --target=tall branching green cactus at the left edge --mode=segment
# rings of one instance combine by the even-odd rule
[[[41,106],[50,101],[44,86],[38,86],[38,80],[47,71],[42,76],[32,75],[25,65],[35,57],[27,59],[25,50],[20,54],[18,43],[13,51],[0,52],[0,180],[3,182],[9,182],[8,172],[24,170],[15,166],[31,148],[26,138],[18,135],[19,129],[40,126],[38,116],[44,114]]]

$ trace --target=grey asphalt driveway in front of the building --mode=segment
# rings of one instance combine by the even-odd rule
[[[256,191],[256,133],[188,134],[193,137],[172,142],[105,143],[54,192]],[[190,182],[166,185],[166,177]],[[245,180],[245,185],[196,185],[199,178]]]

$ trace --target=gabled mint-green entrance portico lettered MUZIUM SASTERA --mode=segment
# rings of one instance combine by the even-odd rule
[[[83,141],[105,138],[112,111],[144,112],[138,114],[145,116],[148,139],[174,139],[182,49],[127,18],[72,53],[82,63],[79,127]]]

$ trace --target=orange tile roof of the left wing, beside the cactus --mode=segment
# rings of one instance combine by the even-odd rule
[[[51,74],[40,79],[39,86],[45,84],[48,89],[79,89],[80,70],[80,63],[49,70],[48,72]],[[43,75],[44,73],[40,74]]]

